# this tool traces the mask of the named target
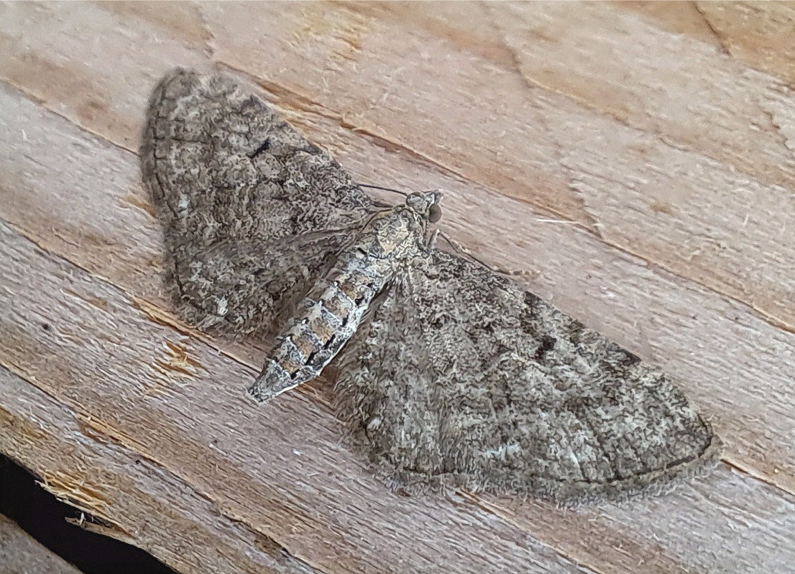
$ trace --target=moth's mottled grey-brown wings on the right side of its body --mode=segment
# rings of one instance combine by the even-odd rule
[[[665,375],[446,252],[395,279],[344,353],[339,417],[393,486],[570,506],[665,491],[719,457]]]

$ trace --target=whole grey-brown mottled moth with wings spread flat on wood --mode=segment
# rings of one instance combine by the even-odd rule
[[[667,491],[719,460],[665,374],[437,247],[440,192],[375,202],[234,79],[166,75],[141,167],[181,316],[276,336],[258,402],[333,361],[336,414],[391,487],[573,506]]]

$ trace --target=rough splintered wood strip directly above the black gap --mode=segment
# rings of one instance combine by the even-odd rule
[[[317,572],[266,534],[219,520],[215,504],[174,472],[3,366],[0,427],[0,450],[91,514],[83,527],[148,549],[178,572]]]

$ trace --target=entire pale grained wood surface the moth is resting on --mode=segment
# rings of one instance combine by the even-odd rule
[[[0,5],[0,450],[180,572],[788,572],[791,4]],[[673,495],[405,497],[328,387],[176,319],[135,150],[169,68],[238,71],[355,177],[661,364],[727,443]],[[789,225],[788,225],[789,224]]]

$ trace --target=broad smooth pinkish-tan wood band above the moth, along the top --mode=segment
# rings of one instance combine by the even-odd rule
[[[211,52],[286,107],[334,114],[349,132],[588,225],[795,329],[789,211],[774,209],[792,206],[795,183],[787,77],[727,55],[704,19],[719,10],[709,4],[684,9],[684,33],[621,4],[497,6],[12,5],[4,47],[15,56],[0,75],[134,147],[157,75]],[[744,17],[787,17],[765,6]],[[15,37],[14,21],[32,13],[41,25]],[[105,57],[119,49],[116,29],[130,34],[123,69]]]

